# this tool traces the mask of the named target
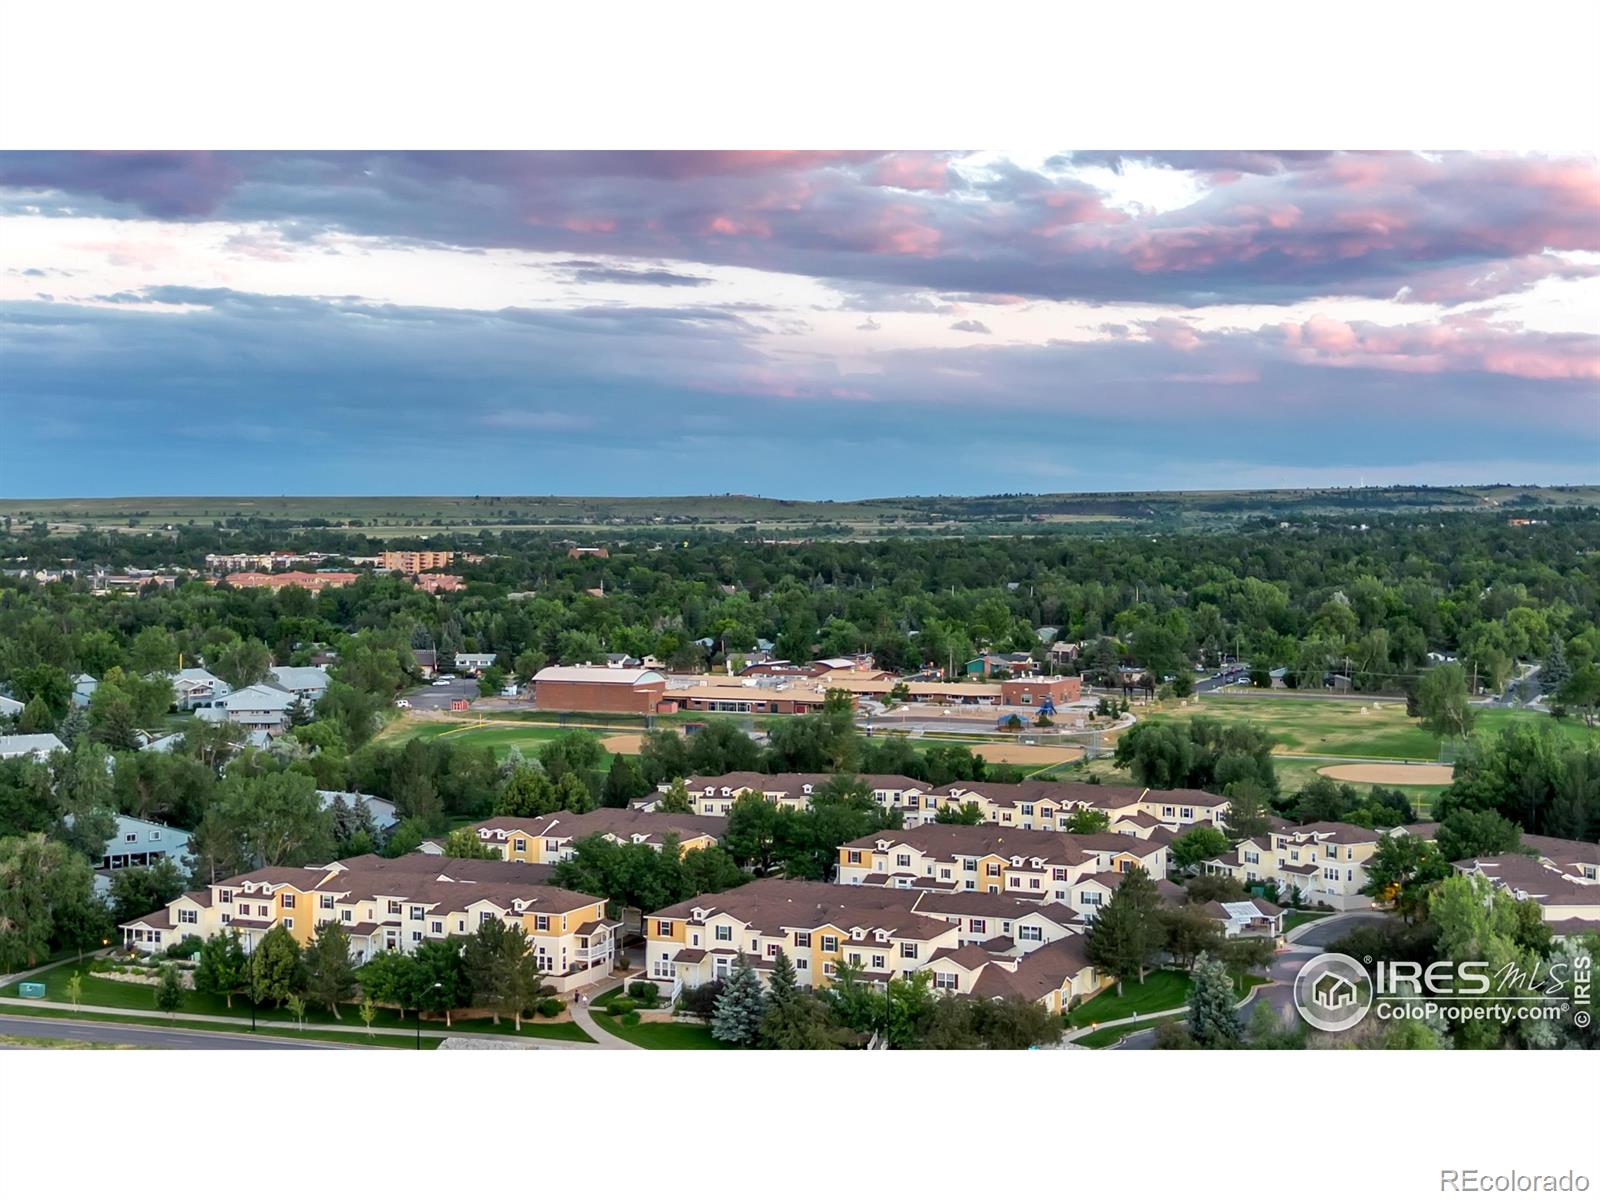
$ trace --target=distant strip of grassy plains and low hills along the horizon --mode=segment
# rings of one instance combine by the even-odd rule
[[[149,530],[222,520],[328,522],[371,536],[454,530],[826,530],[870,533],[1067,533],[1118,528],[1200,530],[1258,517],[1291,520],[1362,512],[1482,512],[1496,507],[1592,506],[1600,488],[1285,488],[1269,491],[1120,491],[1008,496],[891,496],[790,501],[768,496],[128,496],[0,499],[0,515],[85,528]]]

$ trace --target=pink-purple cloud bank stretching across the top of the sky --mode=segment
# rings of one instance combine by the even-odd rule
[[[1179,208],[1130,213],[1074,174],[1134,160],[1198,173],[1205,187]],[[1578,270],[1552,254],[1600,251],[1590,158],[1274,150],[1053,162],[822,150],[5,154],[0,189],[11,206],[293,224],[298,238],[341,232],[846,286],[1176,306],[1394,296],[1413,280],[1485,299]]]

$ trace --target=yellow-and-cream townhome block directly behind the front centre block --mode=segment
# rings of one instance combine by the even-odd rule
[[[1165,843],[1125,834],[1061,834],[997,826],[886,829],[838,850],[838,882],[1074,899],[1074,885],[1133,867],[1166,878]]]

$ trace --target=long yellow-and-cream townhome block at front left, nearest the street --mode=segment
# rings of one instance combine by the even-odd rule
[[[566,994],[610,974],[621,922],[605,915],[603,899],[555,888],[547,877],[523,862],[430,854],[261,867],[125,923],[123,942],[158,950],[189,934],[234,931],[253,950],[282,925],[304,946],[318,925],[338,922],[355,958],[366,962],[381,950],[410,954],[427,941],[464,938],[499,917],[526,934],[546,982]]]

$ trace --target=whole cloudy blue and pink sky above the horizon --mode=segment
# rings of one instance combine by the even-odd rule
[[[1597,466],[1594,158],[0,154],[6,498]]]

